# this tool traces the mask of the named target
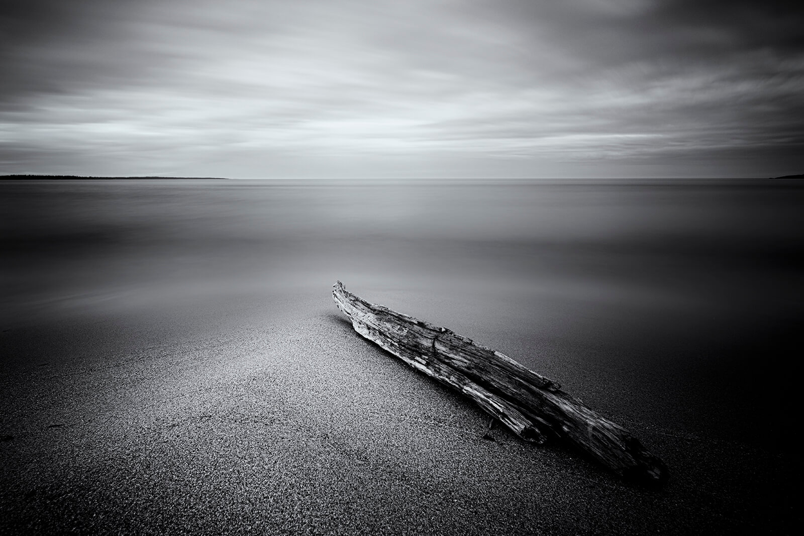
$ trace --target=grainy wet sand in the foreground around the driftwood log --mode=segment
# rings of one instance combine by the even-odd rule
[[[328,290],[4,331],[0,533],[784,534],[798,516],[783,449],[638,419],[654,394],[594,370],[569,390],[667,462],[663,489],[499,426],[483,440],[484,414],[359,338]]]

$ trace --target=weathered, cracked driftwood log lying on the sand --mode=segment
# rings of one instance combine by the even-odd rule
[[[597,415],[548,378],[449,329],[373,305],[338,281],[333,297],[355,331],[408,365],[473,399],[516,436],[568,440],[628,480],[661,484],[667,467],[626,429]]]

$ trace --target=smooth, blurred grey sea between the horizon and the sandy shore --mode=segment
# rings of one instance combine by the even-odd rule
[[[6,182],[3,292],[40,311],[257,285],[800,305],[802,189],[734,182]],[[792,285],[792,286],[791,286]],[[798,288],[800,289],[800,288]],[[16,313],[19,313],[17,311]]]

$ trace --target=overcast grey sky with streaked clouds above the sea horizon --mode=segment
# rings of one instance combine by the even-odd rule
[[[0,174],[799,174],[802,28],[745,0],[15,0]]]

